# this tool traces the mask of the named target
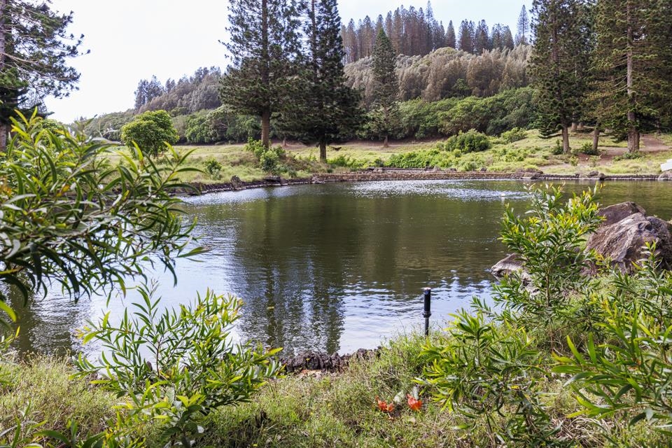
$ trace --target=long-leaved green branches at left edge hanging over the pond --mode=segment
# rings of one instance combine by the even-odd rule
[[[1,232],[8,241],[0,251],[3,285],[27,300],[60,284],[77,299],[111,292],[115,283],[125,290],[127,276],[144,276],[141,264],[150,254],[172,270],[175,258],[200,253],[186,251],[191,228],[171,194],[188,188],[179,181],[193,170],[184,167],[187,155],[171,148],[159,165],[39,123],[36,116],[14,121],[0,160]],[[111,154],[123,163],[113,165]],[[0,308],[7,311],[6,288],[1,291]]]

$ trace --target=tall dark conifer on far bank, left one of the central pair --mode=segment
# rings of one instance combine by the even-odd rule
[[[258,116],[262,143],[269,146],[271,117],[296,90],[296,10],[286,0],[231,0],[229,23],[224,45],[233,63],[222,78],[221,100],[237,113]]]

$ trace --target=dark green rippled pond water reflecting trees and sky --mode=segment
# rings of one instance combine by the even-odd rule
[[[580,192],[589,183],[568,183]],[[672,218],[672,183],[608,183],[600,202],[638,202]],[[188,198],[196,236],[211,249],[182,260],[179,283],[157,274],[163,304],[188,302],[208,287],[244,299],[235,333],[286,351],[347,352],[380,344],[422,323],[421,288],[433,288],[434,325],[489,297],[489,267],[505,202],[528,206],[525,184],[404,181],[295,186]],[[113,299],[119,315],[134,299]],[[78,349],[73,329],[102,316],[102,299],[77,304],[52,293],[21,311],[23,351]]]

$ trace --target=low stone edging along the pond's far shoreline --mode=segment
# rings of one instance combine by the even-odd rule
[[[444,180],[522,180],[522,181],[658,181],[667,180],[657,174],[615,174],[605,175],[599,172],[588,174],[545,174],[539,171],[519,171],[514,173],[498,172],[455,172],[439,169],[391,169],[370,168],[349,173],[318,173],[310,178],[284,179],[280,176],[267,176],[260,181],[244,182],[233,176],[230,182],[191,183],[194,191],[181,190],[179,194],[205,194],[221,191],[239,191],[251,188],[308,185],[330,182],[374,182],[374,181],[444,181]]]

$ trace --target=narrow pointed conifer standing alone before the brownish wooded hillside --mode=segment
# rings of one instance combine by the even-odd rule
[[[395,51],[384,30],[376,37],[373,51],[374,111],[372,125],[388,146],[388,137],[398,120],[398,80],[395,71]]]

